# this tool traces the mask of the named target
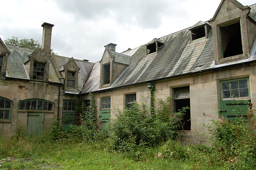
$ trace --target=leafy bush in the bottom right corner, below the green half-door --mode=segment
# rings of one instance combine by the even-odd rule
[[[234,114],[239,116],[241,113]],[[208,139],[218,149],[222,161],[242,169],[256,166],[256,117],[252,110],[247,115],[248,121],[242,116],[234,121],[222,117],[213,119],[213,126],[206,126],[212,133]]]

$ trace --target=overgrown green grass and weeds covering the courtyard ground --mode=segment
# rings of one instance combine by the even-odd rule
[[[107,141],[81,142],[77,138],[42,141],[42,138],[6,138],[0,136],[1,169],[222,169],[221,164],[201,162],[196,147],[190,157],[188,148],[177,141],[156,148],[141,148],[134,157],[110,150]],[[173,150],[173,151],[170,151]],[[174,151],[176,150],[176,151]],[[171,152],[179,156],[169,156]],[[169,154],[169,155],[168,155]],[[12,160],[10,160],[12,159]],[[202,162],[205,161],[204,164]]]

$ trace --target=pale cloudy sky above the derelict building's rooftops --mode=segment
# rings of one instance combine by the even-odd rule
[[[0,38],[33,38],[42,43],[44,22],[54,24],[58,55],[99,61],[104,45],[122,52],[210,20],[221,0],[5,0]],[[239,0],[244,6],[255,0]]]

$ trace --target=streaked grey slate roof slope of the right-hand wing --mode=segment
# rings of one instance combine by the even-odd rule
[[[250,17],[256,19],[256,4],[250,6]],[[179,32],[158,38],[163,45],[157,53],[146,55],[145,45],[141,45],[136,49],[124,51],[122,53],[130,55],[130,65],[121,73],[111,87],[104,89],[124,87],[147,81],[155,81],[176,76],[182,76],[200,71],[207,71],[216,67],[225,65],[215,65],[214,48],[212,30],[208,34],[208,38],[193,41],[190,43],[190,29],[198,27],[207,22],[198,22],[194,26],[181,30]],[[152,41],[154,41],[153,39]],[[256,41],[252,47],[250,58],[245,61],[255,59]],[[238,61],[244,62],[244,61]],[[235,64],[228,63],[228,64]],[[90,81],[89,81],[90,80]],[[92,70],[82,93],[103,90],[100,89],[100,65],[96,63]],[[88,87],[87,87],[88,86]]]

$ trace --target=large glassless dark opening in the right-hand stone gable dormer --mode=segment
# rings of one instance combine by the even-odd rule
[[[240,22],[220,28],[223,57],[243,53]]]

